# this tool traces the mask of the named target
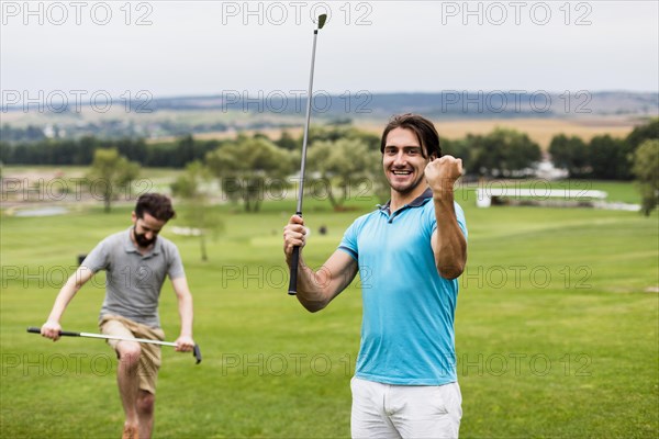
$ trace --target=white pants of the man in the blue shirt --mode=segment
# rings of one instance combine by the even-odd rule
[[[457,438],[462,395],[445,385],[391,385],[353,378],[354,439]]]

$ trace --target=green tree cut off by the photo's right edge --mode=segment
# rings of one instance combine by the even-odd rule
[[[641,195],[641,212],[649,216],[659,202],[659,139],[645,140],[634,153],[634,175]]]

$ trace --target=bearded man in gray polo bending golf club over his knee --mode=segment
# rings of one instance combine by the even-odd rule
[[[181,319],[176,350],[191,351],[194,347],[192,295],[183,264],[176,245],[158,237],[174,215],[167,196],[157,193],[139,196],[132,213],[133,226],[107,237],[85,258],[59,291],[42,326],[42,335],[53,340],[59,338],[59,320],[74,295],[93,274],[105,270],[105,300],[99,316],[101,331],[164,340],[158,300],[165,278],[169,277]],[[118,384],[126,416],[123,437],[150,438],[160,348],[134,341],[110,340],[109,344],[119,358]]]

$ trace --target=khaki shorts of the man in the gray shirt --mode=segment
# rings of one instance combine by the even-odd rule
[[[164,340],[163,329],[156,329],[133,322],[116,315],[104,316],[99,323],[101,333],[108,336],[120,336],[130,338],[148,338],[152,340]],[[108,340],[114,350],[121,340]],[[152,344],[141,344],[142,354],[139,356],[139,390],[156,394],[156,383],[158,381],[158,369],[160,369],[160,347]]]

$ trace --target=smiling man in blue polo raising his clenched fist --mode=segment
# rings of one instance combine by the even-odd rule
[[[354,438],[456,438],[462,410],[454,318],[467,226],[454,183],[462,162],[442,156],[433,123],[415,114],[392,117],[380,150],[390,201],[357,218],[322,269],[300,258],[298,300],[320,311],[361,274]],[[304,235],[293,215],[283,232],[289,264]]]

